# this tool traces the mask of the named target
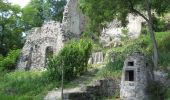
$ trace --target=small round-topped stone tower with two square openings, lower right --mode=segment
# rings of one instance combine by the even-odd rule
[[[140,53],[129,56],[125,62],[120,85],[122,100],[148,100],[147,88],[152,80],[151,70],[145,57]]]

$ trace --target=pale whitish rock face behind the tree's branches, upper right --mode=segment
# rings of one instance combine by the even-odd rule
[[[139,37],[144,19],[140,16],[129,14],[127,20],[129,23],[125,29],[121,27],[120,22],[117,20],[108,23],[100,36],[100,42],[104,47],[116,47],[121,45],[121,38],[125,36],[130,39],[136,39]]]

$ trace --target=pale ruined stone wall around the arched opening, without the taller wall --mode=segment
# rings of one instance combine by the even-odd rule
[[[47,48],[50,47],[57,54],[63,47],[61,24],[50,21],[28,33],[17,67],[26,70],[43,69]]]

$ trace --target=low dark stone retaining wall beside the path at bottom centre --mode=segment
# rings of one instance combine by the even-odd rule
[[[82,92],[64,93],[64,100],[96,100],[101,97],[111,97],[117,90],[112,79],[102,79],[93,85],[81,88]]]

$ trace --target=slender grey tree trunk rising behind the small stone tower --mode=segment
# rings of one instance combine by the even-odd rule
[[[154,63],[154,67],[157,68],[158,67],[158,46],[157,46],[157,42],[155,39],[155,34],[153,31],[153,20],[152,20],[152,14],[151,14],[151,7],[150,7],[150,2],[149,0],[146,0],[146,7],[147,7],[147,13],[148,13],[148,28],[149,28],[149,33],[150,33],[150,38],[153,44],[153,63]]]

